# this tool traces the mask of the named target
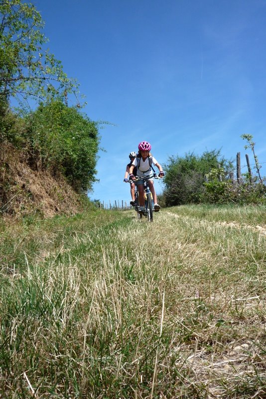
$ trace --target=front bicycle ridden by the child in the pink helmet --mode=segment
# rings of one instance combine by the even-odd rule
[[[159,177],[156,175],[156,173],[153,174],[154,179],[159,179]],[[139,176],[136,176],[135,180],[130,179],[128,183],[135,183],[137,180],[143,180],[144,181],[144,210],[142,212],[139,212],[139,194],[138,194],[138,187],[135,185],[135,211],[137,212],[137,219],[141,219],[142,216],[145,216],[148,221],[153,221],[153,199],[152,199],[152,194],[149,190],[149,185],[148,181],[149,179],[152,178],[142,178]]]

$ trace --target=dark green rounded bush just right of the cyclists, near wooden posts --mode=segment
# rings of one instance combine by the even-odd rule
[[[225,171],[232,167],[231,162],[221,156],[220,150],[206,151],[201,156],[188,153],[184,157],[170,157],[164,165],[166,206],[200,202],[206,175],[218,164]]]

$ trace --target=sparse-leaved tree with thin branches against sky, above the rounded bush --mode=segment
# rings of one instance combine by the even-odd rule
[[[21,0],[0,0],[0,108],[10,97],[23,102],[76,96],[78,85],[68,79],[62,64],[44,49],[44,22],[34,5]],[[25,105],[25,102],[24,102]]]

